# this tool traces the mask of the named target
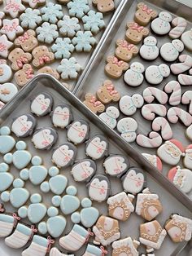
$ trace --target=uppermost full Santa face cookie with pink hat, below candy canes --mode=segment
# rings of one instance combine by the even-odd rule
[[[179,140],[169,139],[158,148],[157,155],[168,165],[175,166],[185,156],[185,149]]]

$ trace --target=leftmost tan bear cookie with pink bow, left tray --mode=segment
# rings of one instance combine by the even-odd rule
[[[32,60],[32,55],[28,52],[24,52],[20,48],[15,48],[10,52],[8,59],[11,60],[11,68],[17,71],[20,68],[23,68],[24,64],[27,64]]]

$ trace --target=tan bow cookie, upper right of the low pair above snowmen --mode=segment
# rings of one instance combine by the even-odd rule
[[[120,93],[115,89],[115,86],[110,80],[103,82],[103,86],[97,90],[98,99],[103,104],[108,104],[111,101],[117,102],[120,100]]]

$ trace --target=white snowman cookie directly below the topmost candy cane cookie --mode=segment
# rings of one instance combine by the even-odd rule
[[[184,50],[184,44],[179,39],[166,42],[160,48],[160,55],[166,61],[177,60],[179,54]]]

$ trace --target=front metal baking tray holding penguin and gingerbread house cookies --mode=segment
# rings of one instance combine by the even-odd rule
[[[30,112],[30,99],[32,99],[33,96],[37,93],[43,91],[46,91],[53,96],[55,104],[59,104],[61,102],[70,104],[72,107],[74,120],[82,118],[85,121],[88,121],[90,126],[90,137],[96,134],[104,135],[109,142],[110,153],[124,154],[125,156],[129,157],[131,166],[141,166],[144,170],[146,170],[146,181],[148,187],[151,189],[151,192],[156,192],[159,195],[160,201],[162,201],[164,205],[164,211],[157,217],[159,223],[164,225],[165,221],[172,213],[178,213],[189,218],[191,217],[192,207],[189,199],[185,197],[179,190],[177,190],[177,188],[175,188],[173,184],[170,184],[162,174],[154,170],[150,163],[143,159],[136,150],[133,150],[129,143],[125,143],[124,140],[120,139],[120,136],[117,135],[114,130],[111,130],[108,126],[104,126],[103,121],[101,121],[98,116],[94,115],[94,113],[92,113],[89,108],[82,104],[80,99],[77,99],[75,95],[72,95],[72,92],[70,92],[61,83],[56,81],[55,78],[50,77],[49,75],[38,75],[37,77],[34,77],[27,86],[24,86],[24,88],[20,90],[17,95],[15,95],[15,98],[12,99],[12,101],[7,104],[7,106],[3,108],[2,112],[0,113],[0,126],[11,126],[11,121],[13,117],[17,117],[22,113]],[[49,116],[37,118],[37,127],[41,126],[52,126]],[[58,132],[59,141],[57,142],[57,144],[67,141],[66,132],[64,130],[58,130]],[[33,156],[39,155],[43,158],[43,162],[46,167],[51,166],[51,150],[46,152],[38,151],[34,148],[30,138],[26,138],[24,139],[24,141],[26,141],[26,143],[28,144],[28,150],[32,153]],[[83,157],[85,157],[85,144],[78,146],[76,159],[82,159]],[[134,161],[133,158],[137,159],[137,161]],[[103,160],[97,161],[97,167],[97,173],[103,174]],[[88,196],[85,183],[76,183],[73,180],[72,175],[70,174],[70,167],[62,170],[61,172],[68,177],[69,184],[74,184],[77,186],[78,196],[81,199],[85,196]],[[15,178],[19,176],[19,171],[15,170],[13,166],[11,166],[11,173],[15,176]],[[111,195],[122,191],[120,179],[110,178],[110,180]],[[33,186],[29,182],[25,183],[25,187],[28,188],[31,193],[40,192],[38,186]],[[43,197],[43,202],[45,202],[45,204],[49,206],[50,198],[51,196],[53,196],[53,194],[43,194],[41,192],[41,195]],[[100,214],[107,214],[107,204],[105,202],[93,202],[93,205],[98,207]],[[9,203],[5,204],[5,207],[7,211],[11,212],[12,210],[14,210],[11,208],[11,206],[9,206]],[[68,217],[67,219],[68,224],[64,231],[64,234],[67,234],[72,228],[70,217]],[[24,222],[27,223],[27,219],[24,219]],[[125,223],[120,222],[121,237],[123,238],[125,236],[132,236],[133,238],[137,239],[139,235],[139,224],[143,222],[144,220],[137,216],[137,214],[132,214],[129,220]],[[7,246],[3,243],[3,240],[0,240],[0,245],[1,249],[4,249],[7,253],[5,253],[5,255],[20,255],[20,249],[16,250],[7,248]],[[176,252],[182,250],[185,245],[186,243],[181,245],[174,244],[167,236],[164,240],[162,248],[159,249],[159,251],[157,251],[155,255],[176,255]],[[84,250],[85,246],[83,249],[81,249],[81,251],[78,251],[76,255],[82,255]],[[111,255],[111,250],[109,250],[108,255]]]

